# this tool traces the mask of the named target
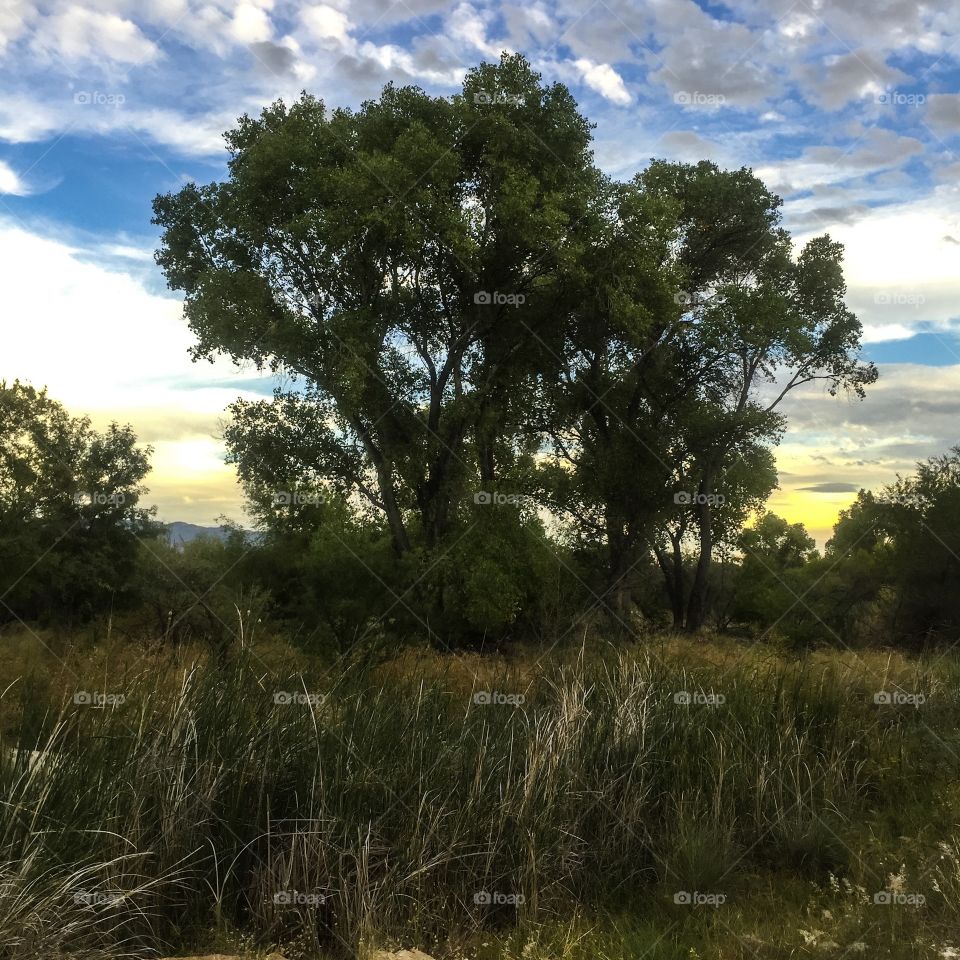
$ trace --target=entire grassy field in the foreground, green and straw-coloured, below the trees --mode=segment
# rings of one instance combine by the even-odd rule
[[[952,652],[0,644],[4,960],[960,948]]]

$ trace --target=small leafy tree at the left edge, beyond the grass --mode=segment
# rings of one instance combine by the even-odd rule
[[[45,390],[0,382],[0,621],[82,618],[124,597],[137,542],[155,536],[150,448],[92,429]]]

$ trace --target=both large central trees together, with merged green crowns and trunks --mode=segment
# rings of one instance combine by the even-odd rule
[[[522,57],[449,98],[277,103],[227,144],[225,181],[154,209],[195,356],[294,378],[233,406],[231,456],[256,502],[322,486],[365,503],[398,554],[443,554],[471,494],[536,489],[547,462],[540,504],[603,543],[621,614],[631,569],[682,528],[697,564],[672,602],[697,629],[714,537],[747,503],[715,516],[717,484],[747,490],[737,464],[779,438],[790,390],[875,376],[836,244],[794,257],[746,169],[602,176],[568,91]]]

